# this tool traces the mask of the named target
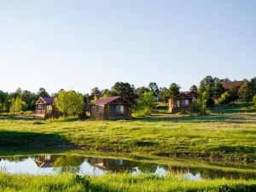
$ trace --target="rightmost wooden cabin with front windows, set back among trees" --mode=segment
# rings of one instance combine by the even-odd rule
[[[168,108],[171,113],[192,111],[198,94],[193,90],[184,91],[169,99]]]

